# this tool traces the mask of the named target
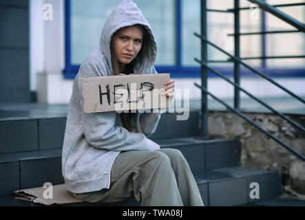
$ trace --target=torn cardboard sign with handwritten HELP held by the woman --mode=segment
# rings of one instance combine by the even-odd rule
[[[82,78],[83,112],[168,108],[172,98],[161,89],[169,74],[141,74]]]

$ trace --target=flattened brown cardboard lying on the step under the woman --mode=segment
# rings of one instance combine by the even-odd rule
[[[54,185],[52,186],[53,198],[45,199],[43,197],[43,192],[47,188],[37,187],[37,188],[27,188],[23,190],[16,190],[14,193],[19,195],[15,199],[21,199],[25,201],[33,201],[34,203],[41,203],[46,206],[50,206],[54,203],[56,204],[65,204],[65,203],[76,203],[82,202],[80,199],[76,199],[69,191],[66,190],[65,184]]]

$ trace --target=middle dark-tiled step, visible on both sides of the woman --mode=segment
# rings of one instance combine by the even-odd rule
[[[156,140],[161,148],[177,148],[192,171],[240,165],[240,143],[236,140],[200,140],[195,137]],[[221,152],[221,153],[220,153]],[[0,154],[0,196],[13,190],[63,183],[61,148]],[[212,159],[213,158],[213,159]]]

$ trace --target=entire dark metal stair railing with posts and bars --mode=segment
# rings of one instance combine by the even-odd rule
[[[240,91],[242,91],[245,94],[247,94],[249,97],[253,98],[254,100],[259,102],[260,104],[264,105],[264,107],[271,110],[276,115],[279,115],[281,118],[283,118],[284,120],[286,120],[287,122],[289,122],[293,126],[297,127],[297,129],[299,129],[300,131],[305,132],[305,129],[304,129],[303,126],[301,126],[300,124],[297,124],[297,122],[295,122],[295,121],[291,120],[290,118],[286,117],[285,115],[283,115],[279,111],[270,107],[269,104],[266,104],[265,102],[263,102],[259,98],[253,96],[253,94],[249,93],[249,91],[246,91],[246,89],[243,89],[242,87],[240,87],[240,65],[243,65],[247,69],[250,69],[251,72],[261,76],[262,78],[264,78],[266,80],[268,80],[270,83],[279,87],[280,89],[285,91],[287,94],[289,94],[293,98],[295,98],[295,99],[297,99],[300,102],[305,104],[305,100],[303,98],[297,96],[292,91],[289,91],[288,89],[286,89],[282,85],[276,83],[275,80],[273,80],[269,76],[266,76],[265,74],[262,74],[261,72],[257,71],[256,69],[254,69],[253,67],[247,65],[246,63],[244,63],[242,61],[242,59],[253,59],[253,57],[252,58],[240,58],[240,35],[246,35],[246,34],[279,34],[279,33],[284,33],[284,32],[305,32],[305,25],[303,23],[301,23],[299,21],[296,21],[295,19],[289,17],[287,14],[284,14],[283,12],[281,12],[280,10],[277,10],[275,8],[275,7],[282,7],[282,6],[305,5],[305,3],[294,3],[294,4],[292,3],[292,4],[285,4],[285,5],[268,5],[264,1],[261,1],[261,0],[249,0],[249,1],[251,1],[252,3],[257,3],[257,5],[259,5],[261,9],[266,10],[266,12],[270,12],[271,14],[275,15],[279,19],[282,19],[282,21],[286,21],[287,23],[293,25],[295,28],[297,28],[297,30],[285,30],[285,31],[274,31],[274,32],[263,31],[263,32],[253,32],[253,33],[242,33],[242,34],[240,34],[239,12],[240,12],[240,10],[245,10],[245,9],[249,9],[249,8],[240,8],[239,0],[234,0],[234,9],[233,10],[227,10],[227,11],[211,10],[211,9],[207,9],[207,0],[201,0],[201,7],[200,7],[200,11],[201,11],[201,17],[200,17],[200,20],[201,20],[201,34],[194,33],[194,35],[198,36],[198,38],[200,38],[200,40],[201,40],[201,61],[198,58],[195,58],[195,61],[200,63],[200,65],[201,65],[201,85],[198,85],[197,83],[195,83],[195,85],[196,85],[196,87],[200,88],[201,91],[202,91],[202,102],[201,102],[202,135],[203,135],[203,137],[208,138],[208,124],[207,124],[207,122],[208,122],[208,109],[207,109],[208,102],[207,102],[207,95],[209,95],[212,98],[214,98],[215,100],[217,100],[218,102],[220,102],[221,104],[223,104],[225,107],[227,107],[227,109],[230,109],[231,111],[233,111],[234,113],[239,115],[241,118],[243,118],[244,120],[246,120],[247,122],[249,122],[250,124],[255,126],[262,133],[265,133],[266,135],[271,137],[273,140],[275,140],[275,142],[284,146],[284,148],[286,148],[288,151],[290,151],[291,153],[295,154],[297,157],[299,157],[300,159],[305,161],[304,155],[295,151],[293,148],[291,148],[291,146],[288,146],[288,144],[285,144],[284,142],[282,142],[280,139],[278,139],[277,137],[275,137],[274,135],[272,135],[271,133],[269,133],[265,129],[262,129],[261,126],[259,126],[255,122],[253,122],[253,120],[246,117],[246,115],[244,115],[242,112],[240,112],[238,110],[238,109],[240,109]],[[207,12],[210,12],[210,11],[212,11],[212,12],[233,12],[234,13],[234,34],[228,34],[229,36],[234,36],[234,38],[235,38],[234,39],[234,55],[229,54],[229,52],[226,52],[225,50],[222,50],[222,48],[218,47],[217,45],[215,45],[211,41],[207,40]],[[207,60],[207,45],[208,44],[211,45],[212,47],[215,47],[216,49],[220,50],[220,52],[229,56],[230,59],[228,59],[228,61],[208,61]],[[260,56],[260,57],[255,57],[255,58],[266,59],[266,58],[304,58],[304,57],[305,56],[281,56],[281,57],[280,56],[273,56],[273,57],[271,57],[271,56],[269,56],[269,57],[268,56]],[[209,62],[232,62],[232,61],[234,62],[234,82],[232,82],[231,80],[229,80],[229,78],[223,76],[219,72],[215,71],[215,69],[213,69],[213,68],[209,67],[209,65],[207,65],[207,63],[209,63]],[[211,94],[211,92],[209,92],[207,90],[207,72],[208,72],[208,70],[213,72],[214,74],[220,76],[220,78],[223,78],[228,83],[230,83],[231,85],[234,86],[234,107],[230,107],[227,103],[223,102],[222,100],[220,100],[220,98],[217,98],[215,95]]]

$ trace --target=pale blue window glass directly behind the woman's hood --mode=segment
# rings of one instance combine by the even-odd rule
[[[120,1],[90,0],[90,3],[84,0],[70,1],[72,65],[79,65],[87,54],[98,49],[98,42],[105,21]],[[176,32],[174,0],[134,0],[134,2],[143,10],[145,18],[154,30],[158,42],[156,65],[174,65]]]

